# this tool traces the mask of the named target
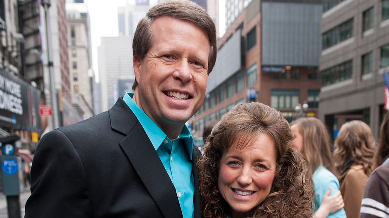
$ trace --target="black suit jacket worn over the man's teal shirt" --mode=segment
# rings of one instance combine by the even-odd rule
[[[200,218],[193,147],[194,217]],[[122,98],[107,112],[45,134],[25,218],[182,218],[173,183]]]

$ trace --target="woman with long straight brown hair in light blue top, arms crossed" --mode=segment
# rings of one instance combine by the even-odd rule
[[[330,137],[324,124],[314,117],[303,117],[291,123],[294,134],[293,146],[299,150],[305,160],[307,176],[313,182],[315,190],[315,216],[328,218],[346,218],[343,210],[343,200],[339,207],[322,213],[319,209],[323,205],[323,197],[331,188],[331,196],[339,195],[339,182],[334,172],[332,161]],[[339,210],[340,209],[340,210]],[[320,214],[319,214],[320,213]],[[327,216],[328,215],[328,216]]]

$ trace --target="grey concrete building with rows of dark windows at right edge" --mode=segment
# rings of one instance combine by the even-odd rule
[[[323,1],[319,118],[334,137],[359,119],[378,138],[386,114],[383,72],[389,70],[389,0]]]

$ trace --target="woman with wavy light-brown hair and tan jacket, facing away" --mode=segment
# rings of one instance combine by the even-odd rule
[[[375,146],[372,130],[359,120],[343,124],[335,139],[335,168],[349,218],[360,217],[362,193],[373,171]]]

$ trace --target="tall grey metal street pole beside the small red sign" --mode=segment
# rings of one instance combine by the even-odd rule
[[[44,17],[45,17],[45,25],[46,25],[46,41],[47,41],[47,60],[48,60],[48,69],[49,69],[49,77],[50,77],[50,94],[51,94],[51,107],[53,109],[52,114],[52,123],[53,129],[59,127],[58,120],[58,103],[57,103],[57,94],[55,89],[55,75],[53,71],[53,61],[51,58],[51,31],[50,31],[50,19],[48,14],[48,8],[50,7],[50,0],[42,0],[42,5],[44,7]]]

